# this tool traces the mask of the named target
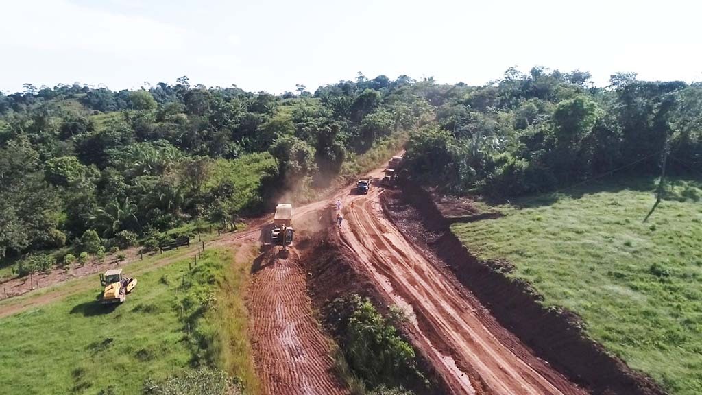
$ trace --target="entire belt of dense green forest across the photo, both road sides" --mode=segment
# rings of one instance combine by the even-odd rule
[[[405,131],[406,174],[448,193],[658,174],[665,149],[668,171],[694,174],[702,84],[617,74],[596,88],[587,72],[543,67],[486,86],[359,73],[280,96],[187,77],[136,91],[26,84],[0,93],[0,258],[99,253],[188,221],[232,226],[282,193],[355,175],[359,154]]]

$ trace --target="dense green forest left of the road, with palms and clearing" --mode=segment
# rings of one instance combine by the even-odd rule
[[[359,73],[281,96],[187,77],[136,91],[25,84],[0,93],[0,258],[64,245],[102,254],[187,221],[233,226],[430,122],[428,85]],[[25,263],[24,273],[53,261]]]

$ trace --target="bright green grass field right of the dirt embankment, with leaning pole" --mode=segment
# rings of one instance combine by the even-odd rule
[[[508,259],[547,305],[673,394],[702,394],[702,182],[675,180],[647,223],[655,180],[590,183],[454,224],[469,250]]]

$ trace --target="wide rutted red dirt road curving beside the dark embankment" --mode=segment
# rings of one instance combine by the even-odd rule
[[[585,394],[404,238],[383,215],[381,193],[375,187],[368,195],[340,197],[341,240],[383,297],[406,310],[414,346],[456,394]]]

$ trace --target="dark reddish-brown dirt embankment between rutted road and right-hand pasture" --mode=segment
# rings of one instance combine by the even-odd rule
[[[509,264],[472,255],[449,231],[453,220],[442,214],[430,193],[405,185],[382,198],[384,211],[406,235],[425,245],[501,325],[570,380],[593,394],[665,394],[649,377],[631,370],[589,339],[574,313],[545,308],[528,283],[505,276]],[[477,219],[481,219],[479,214],[472,216]]]

